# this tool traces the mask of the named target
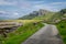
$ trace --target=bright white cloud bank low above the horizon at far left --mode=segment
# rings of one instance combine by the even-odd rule
[[[21,16],[18,12],[0,11],[0,18],[16,19]]]

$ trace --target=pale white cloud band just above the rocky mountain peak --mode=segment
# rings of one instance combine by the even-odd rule
[[[34,7],[32,7],[32,10],[40,10],[40,9],[44,9],[44,10],[50,10],[50,11],[57,11],[57,7],[53,7],[53,6],[48,6],[48,4],[36,4]]]

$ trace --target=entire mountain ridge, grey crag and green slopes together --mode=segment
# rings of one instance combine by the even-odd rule
[[[47,10],[33,11],[32,13],[24,15],[20,19],[24,20],[42,20],[47,23],[57,23],[63,19],[66,19],[66,9],[62,9],[58,12],[51,12]]]

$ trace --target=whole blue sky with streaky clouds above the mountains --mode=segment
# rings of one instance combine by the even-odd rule
[[[65,8],[66,0],[0,0],[0,18],[16,19],[40,9],[59,11]]]

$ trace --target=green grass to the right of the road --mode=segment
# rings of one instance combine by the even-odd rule
[[[58,31],[62,35],[62,38],[64,41],[64,44],[66,44],[66,21],[61,21],[58,24],[57,24],[57,28],[58,28]]]

